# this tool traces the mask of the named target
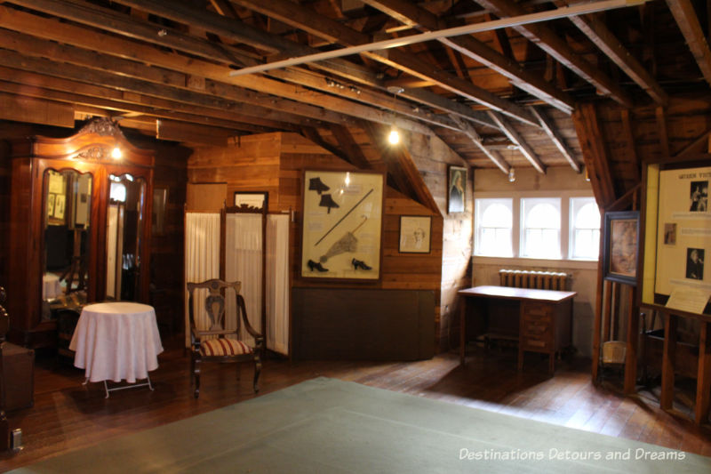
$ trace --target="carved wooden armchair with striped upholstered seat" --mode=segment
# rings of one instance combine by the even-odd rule
[[[254,391],[260,391],[257,382],[260,379],[261,359],[260,354],[264,348],[264,336],[250,325],[247,311],[244,309],[244,298],[239,293],[240,282],[228,283],[219,279],[207,280],[202,283],[188,283],[188,315],[190,317],[190,382],[195,382],[195,398],[200,396],[200,366],[203,362],[247,362],[254,361]],[[196,322],[194,298],[196,290],[206,289],[204,309],[208,321],[204,324]],[[230,291],[232,290],[232,291]],[[236,328],[228,329],[226,326],[225,308],[228,295],[232,293],[235,298],[237,310]],[[252,335],[255,344],[249,346],[240,341],[240,327]],[[237,365],[237,380],[239,380],[240,367]]]

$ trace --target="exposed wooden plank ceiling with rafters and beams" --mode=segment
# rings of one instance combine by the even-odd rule
[[[298,132],[363,165],[356,138],[395,125],[438,136],[475,167],[579,171],[585,149],[595,149],[578,140],[572,114],[581,104],[663,114],[670,93],[711,82],[708,25],[699,23],[711,18],[707,2],[619,4],[583,2],[605,10],[570,16],[566,8],[581,4],[0,1],[0,100],[32,104],[38,123],[47,123],[46,104],[60,104],[76,119],[113,116],[188,144]],[[443,36],[457,27],[478,31]],[[406,44],[363,46],[395,38]],[[303,59],[240,71],[293,58]],[[579,113],[587,117],[579,126],[594,123],[589,108]],[[13,117],[4,107],[0,118]],[[31,111],[20,119],[32,121]]]

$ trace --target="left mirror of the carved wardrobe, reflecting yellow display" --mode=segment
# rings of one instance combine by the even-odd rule
[[[44,172],[44,259],[42,299],[86,301],[92,174],[76,170]],[[43,318],[49,317],[44,314]]]

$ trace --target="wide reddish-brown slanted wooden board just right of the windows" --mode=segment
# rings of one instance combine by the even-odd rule
[[[583,150],[583,159],[593,187],[595,201],[601,210],[605,210],[616,201],[616,194],[612,185],[610,158],[605,146],[603,130],[597,119],[595,104],[592,102],[580,104],[573,112],[572,119]]]

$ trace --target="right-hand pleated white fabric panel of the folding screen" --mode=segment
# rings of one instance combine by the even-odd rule
[[[289,355],[289,214],[267,219],[267,348]]]

